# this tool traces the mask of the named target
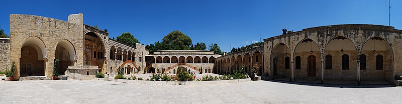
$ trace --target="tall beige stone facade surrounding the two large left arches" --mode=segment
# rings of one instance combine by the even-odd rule
[[[69,22],[57,19],[32,16],[32,15],[10,15],[10,46],[11,61],[16,64],[16,78],[20,76],[21,48],[34,45],[42,50],[42,60],[45,68],[45,75],[51,76],[53,60],[55,59],[56,46],[60,41],[67,40],[74,48],[74,65],[83,64],[83,15],[76,14],[69,16]],[[29,40],[28,39],[33,39]],[[24,44],[26,43],[26,44]]]

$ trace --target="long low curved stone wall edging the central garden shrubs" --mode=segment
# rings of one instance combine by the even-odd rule
[[[105,79],[95,78],[95,80],[105,80]],[[149,81],[149,80],[112,79],[112,81],[124,82],[124,83],[153,84],[153,85],[207,85],[207,84],[246,82],[251,81],[251,79],[246,78],[246,79],[211,80],[211,81]]]

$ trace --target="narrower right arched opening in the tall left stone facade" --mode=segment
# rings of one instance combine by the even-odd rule
[[[75,62],[74,46],[68,40],[60,41],[56,46],[55,59],[59,59],[59,75],[65,75],[67,67]]]

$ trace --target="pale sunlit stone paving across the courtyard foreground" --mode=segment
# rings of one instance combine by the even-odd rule
[[[271,81],[214,85],[72,79],[1,81],[0,103],[402,103],[402,87],[342,87]]]

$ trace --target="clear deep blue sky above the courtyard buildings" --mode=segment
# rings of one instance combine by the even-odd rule
[[[336,24],[388,25],[388,1],[2,1],[0,25],[10,34],[9,14],[67,20],[84,14],[84,24],[124,32],[141,44],[179,30],[193,43],[218,43],[223,51],[277,36],[281,30]],[[402,1],[391,1],[391,26],[402,29]]]

